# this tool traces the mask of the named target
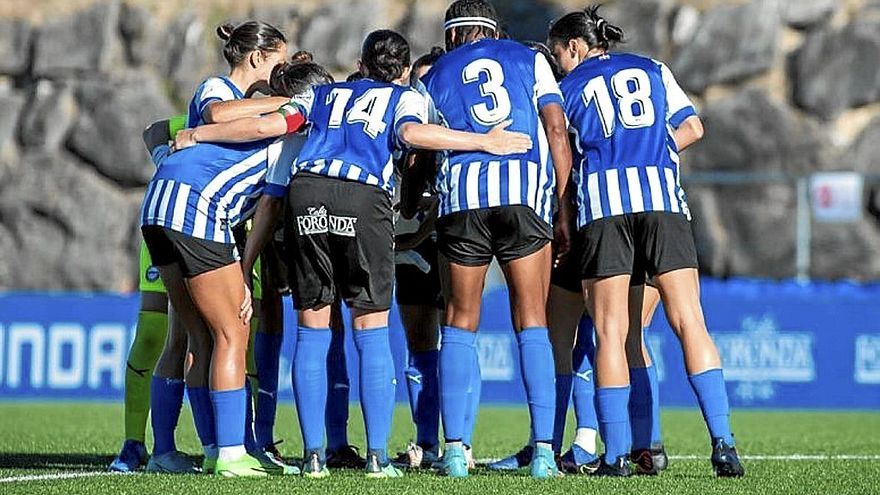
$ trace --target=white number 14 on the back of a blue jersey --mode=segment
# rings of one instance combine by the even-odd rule
[[[364,124],[364,132],[373,139],[385,132],[388,124],[385,123],[385,112],[391,103],[391,95],[394,88],[373,88],[367,90],[360,98],[354,101],[348,115],[345,115],[345,107],[354,92],[347,88],[335,88],[327,95],[327,104],[333,104],[330,110],[328,126],[336,129],[342,126],[345,120],[349,124]]]

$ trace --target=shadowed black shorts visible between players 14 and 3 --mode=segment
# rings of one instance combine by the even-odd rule
[[[394,278],[397,304],[404,306],[431,306],[444,309],[443,295],[440,291],[440,268],[437,264],[437,242],[427,239],[412,250],[420,256],[430,271],[412,263],[401,263],[395,267]]]

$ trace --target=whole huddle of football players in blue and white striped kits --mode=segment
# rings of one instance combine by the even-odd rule
[[[546,45],[504,39],[499,26],[488,0],[455,1],[446,50],[411,63],[403,36],[374,31],[340,83],[307,52],[288,57],[269,24],[218,29],[229,75],[202,83],[185,118],[144,133],[157,171],[141,213],[126,441],[111,470],[467,477],[494,259],[531,424],[526,447],[489,469],[528,467],[539,479],[663,470],[657,375],[642,335],[662,299],[713,469],[743,475],[679,178],[678,153],[702,137],[694,106],[662,63],[609,51],[623,32],[598,8],[556,20]],[[298,325],[297,465],[281,458],[273,433],[287,291]],[[393,294],[416,430],[395,458]],[[342,303],[359,358],[364,457],[346,433]],[[174,441],[184,390],[200,467]],[[570,401],[577,431],[563,454]]]

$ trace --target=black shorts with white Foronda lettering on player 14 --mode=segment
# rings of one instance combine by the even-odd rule
[[[285,256],[296,309],[331,304],[391,307],[394,221],[391,198],[376,186],[309,172],[290,183]]]

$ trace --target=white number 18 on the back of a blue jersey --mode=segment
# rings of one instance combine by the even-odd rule
[[[620,107],[620,122],[627,129],[640,129],[654,125],[654,103],[651,102],[651,79],[642,69],[624,69],[611,78],[611,88]],[[602,76],[594,77],[584,87],[584,104],[595,101],[605,137],[614,133],[615,115],[611,92]]]

